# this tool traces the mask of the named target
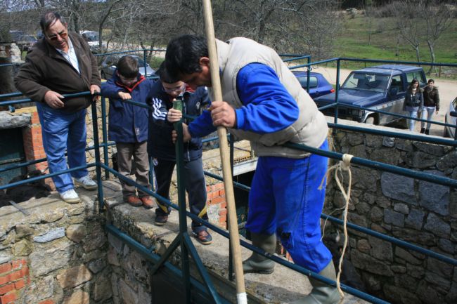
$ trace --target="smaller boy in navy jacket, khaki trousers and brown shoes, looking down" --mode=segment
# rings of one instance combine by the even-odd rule
[[[139,73],[138,61],[125,55],[117,62],[112,78],[101,86],[101,95],[110,98],[108,136],[116,142],[119,173],[127,176],[131,172],[134,158],[136,183],[150,189],[148,160],[148,120],[146,107],[139,107],[123,100],[151,105],[153,81]],[[122,197],[131,206],[153,208],[153,198],[134,185],[121,180]]]

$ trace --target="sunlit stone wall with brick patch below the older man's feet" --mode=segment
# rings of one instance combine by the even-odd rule
[[[0,209],[0,303],[112,303],[111,267],[96,192],[58,194]]]

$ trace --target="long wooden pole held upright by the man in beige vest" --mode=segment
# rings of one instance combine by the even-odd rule
[[[214,91],[214,100],[222,101],[221,79],[219,79],[219,60],[217,58],[216,39],[214,38],[214,24],[212,21],[212,8],[210,0],[203,0],[203,13],[205,15],[205,29],[208,52],[210,55],[211,85],[212,90]],[[222,176],[224,177],[227,202],[228,232],[230,233],[233,265],[235,267],[236,299],[238,304],[247,304],[226,128],[219,126],[217,128],[217,135],[219,136],[219,152],[221,153]]]

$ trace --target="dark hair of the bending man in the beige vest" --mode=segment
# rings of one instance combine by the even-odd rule
[[[179,73],[200,72],[200,58],[209,57],[205,37],[185,34],[169,41],[165,62],[168,73],[176,78]]]

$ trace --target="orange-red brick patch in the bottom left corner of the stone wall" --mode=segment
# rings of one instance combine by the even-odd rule
[[[0,265],[0,304],[15,303],[18,293],[30,282],[25,260],[13,260]]]

